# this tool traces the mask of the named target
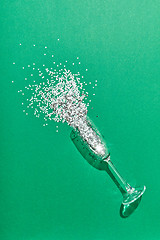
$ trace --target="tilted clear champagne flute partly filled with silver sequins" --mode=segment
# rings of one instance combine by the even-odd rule
[[[122,218],[130,216],[138,207],[146,187],[131,187],[122,178],[111,161],[104,139],[87,116],[80,119],[80,124],[73,128],[70,137],[78,151],[90,165],[109,174],[122,193],[123,200],[120,206],[120,216]]]

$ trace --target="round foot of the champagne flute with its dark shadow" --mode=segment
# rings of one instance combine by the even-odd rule
[[[124,194],[123,202],[120,207],[120,216],[122,218],[129,217],[134,212],[138,207],[145,190],[145,186],[132,188],[127,194]]]

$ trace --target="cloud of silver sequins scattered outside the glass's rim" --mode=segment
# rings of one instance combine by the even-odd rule
[[[45,49],[47,49],[47,46],[45,46]],[[48,56],[47,53],[43,53],[43,55]],[[54,55],[50,55],[50,58],[51,57],[54,57]],[[77,57],[77,59],[79,59],[79,57]],[[65,63],[67,62],[68,61],[65,60]],[[56,62],[52,63],[56,64]],[[13,62],[13,64],[15,64],[15,62]],[[81,64],[81,62],[75,61],[71,63],[71,65],[78,64]],[[67,67],[68,65],[69,64],[67,64]],[[49,122],[50,120],[53,120],[57,123],[66,122],[73,128],[80,128],[82,122],[85,122],[88,107],[91,102],[91,99],[88,99],[88,83],[81,82],[81,80],[84,79],[84,76],[85,79],[87,79],[87,73],[84,73],[84,76],[81,76],[80,72],[72,73],[66,68],[64,62],[56,64],[57,69],[52,67],[49,68],[45,64],[38,65],[37,62],[33,62],[31,65],[29,64],[27,66],[28,68],[32,66],[27,70],[30,72],[30,77],[28,77],[27,74],[27,77],[24,79],[28,80],[27,82],[30,84],[24,87],[23,92],[22,90],[18,91],[22,95],[27,96],[27,104],[22,102],[22,105],[25,105],[27,109],[31,108],[33,114],[37,118],[41,117],[41,115],[44,116],[43,126],[48,125],[48,120]],[[40,66],[43,66],[43,69]],[[21,69],[25,69],[26,71],[26,66],[23,66]],[[33,70],[34,78],[32,73]],[[86,68],[85,71],[87,72],[88,69]],[[33,80],[31,80],[31,77]],[[12,81],[12,83],[13,82],[14,81]],[[96,84],[94,86],[97,86],[97,80],[95,80],[95,82]],[[89,84],[91,84],[91,82],[89,82]],[[92,87],[92,89],[94,89],[94,87]],[[90,95],[95,95],[95,93],[92,91]],[[25,98],[25,96],[23,98]],[[25,112],[25,109],[23,112]],[[28,115],[26,112],[25,114]],[[58,126],[56,126],[56,129],[57,128]]]

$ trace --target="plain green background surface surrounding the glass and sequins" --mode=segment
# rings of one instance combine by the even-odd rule
[[[2,0],[0,11],[0,239],[160,239],[160,1]],[[89,115],[124,178],[147,186],[129,218],[67,125],[57,134],[22,112],[23,72],[12,63],[27,64],[33,43],[58,61],[79,56],[86,81],[98,79]]]

